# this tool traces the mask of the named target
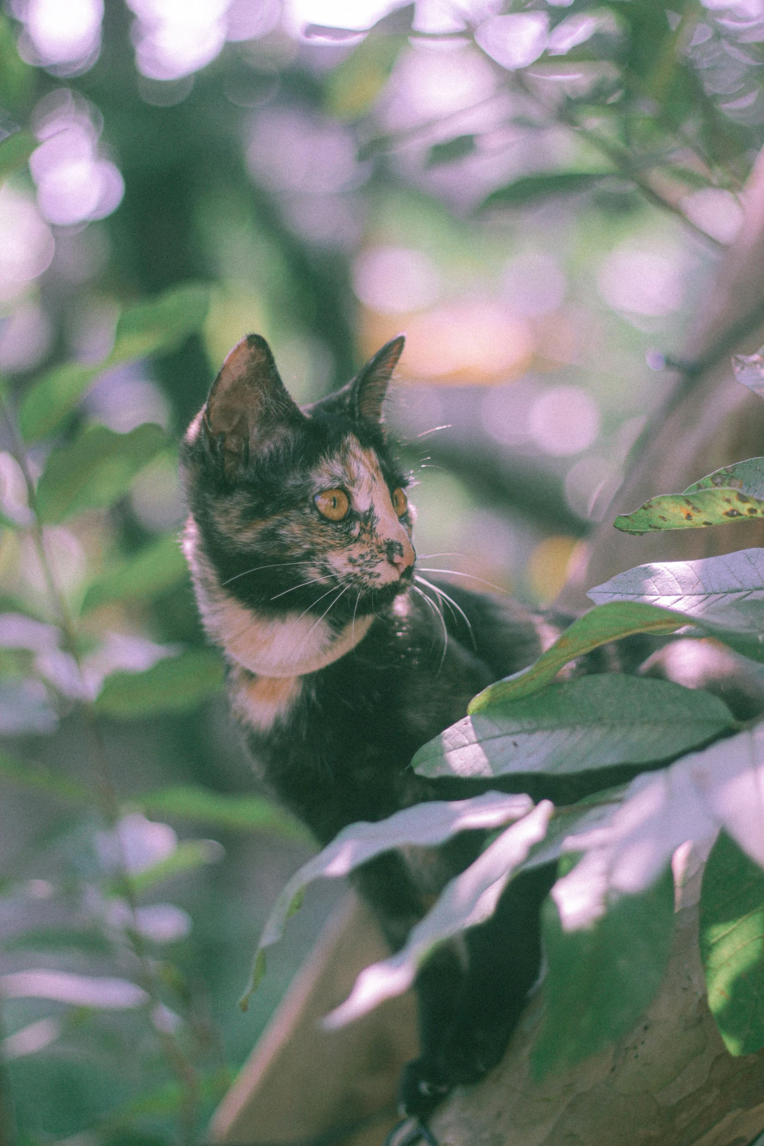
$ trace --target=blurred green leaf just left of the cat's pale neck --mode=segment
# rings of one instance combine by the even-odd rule
[[[160,660],[144,673],[112,673],[95,701],[119,720],[196,708],[223,685],[223,664],[212,649],[194,649]]]

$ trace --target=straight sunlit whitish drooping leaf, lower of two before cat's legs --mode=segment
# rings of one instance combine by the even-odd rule
[[[446,886],[435,906],[411,929],[400,951],[361,972],[348,998],[326,1015],[323,1026],[336,1030],[360,1019],[385,999],[402,995],[441,943],[493,916],[504,888],[530,847],[544,838],[552,810],[549,800],[543,800],[502,832],[473,864]]]

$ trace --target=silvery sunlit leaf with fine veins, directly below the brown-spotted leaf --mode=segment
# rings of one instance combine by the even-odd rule
[[[693,619],[725,604],[761,601],[764,610],[764,549],[739,549],[694,562],[638,565],[590,589],[596,605],[641,602],[675,609]]]

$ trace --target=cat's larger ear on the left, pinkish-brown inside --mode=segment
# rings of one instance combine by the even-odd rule
[[[212,384],[203,426],[231,477],[302,421],[260,335],[236,344]]]

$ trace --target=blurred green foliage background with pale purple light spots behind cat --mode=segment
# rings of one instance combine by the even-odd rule
[[[231,746],[178,544],[175,441],[229,346],[266,335],[310,401],[405,329],[389,417],[418,549],[552,599],[663,398],[644,354],[679,343],[764,141],[762,21],[732,0],[420,3],[368,34],[361,3],[347,30],[320,0],[302,29],[225,9],[206,56],[153,63],[121,0],[77,42],[33,3],[0,16],[2,973],[150,996],[8,1000],[27,1144],[198,1141],[299,960],[243,1025],[254,933],[309,841]],[[171,32],[162,50],[190,42]],[[21,1053],[42,1019],[56,1034]]]

